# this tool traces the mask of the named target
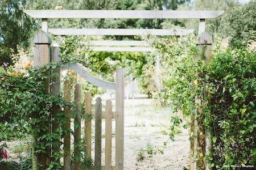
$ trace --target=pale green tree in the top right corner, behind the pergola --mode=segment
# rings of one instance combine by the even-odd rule
[[[207,31],[222,38],[230,37],[232,48],[240,48],[255,36],[256,2],[241,4],[236,0],[196,0],[195,10],[224,10],[225,13],[216,19],[207,20]],[[193,24],[197,27],[197,23]]]

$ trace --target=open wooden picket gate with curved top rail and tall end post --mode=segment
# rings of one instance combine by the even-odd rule
[[[92,95],[90,92],[85,93],[85,99],[81,96],[80,84],[75,85],[74,101],[76,104],[76,111],[81,113],[81,103],[84,100],[85,119],[81,120],[80,116],[74,117],[75,128],[74,146],[81,145],[81,121],[84,121],[84,150],[86,156],[92,156],[92,121],[95,121],[95,135],[94,135],[94,167],[98,169],[123,169],[123,69],[117,69],[116,82],[106,82],[95,78],[86,72],[85,68],[78,63],[67,63],[63,65],[63,69],[75,70],[82,78],[95,86],[115,90],[115,111],[112,111],[112,100],[106,100],[105,109],[102,109],[102,99],[97,97],[95,109],[92,108]],[[71,83],[64,82],[64,99],[65,101],[71,100]],[[66,109],[65,114],[70,115],[70,109]],[[68,119],[71,117],[68,116]],[[105,119],[105,165],[102,165],[102,119]],[[112,165],[112,120],[115,120],[115,165]],[[70,120],[65,128],[70,129]],[[67,133],[64,137],[64,169],[71,167],[71,135]],[[74,158],[80,155],[79,148],[74,148]],[[81,169],[81,160],[75,159],[71,169]]]

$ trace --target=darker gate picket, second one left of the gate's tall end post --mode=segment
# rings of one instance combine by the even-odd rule
[[[95,108],[95,155],[94,155],[94,167],[101,169],[101,121],[102,121],[102,104],[101,98],[96,99]]]

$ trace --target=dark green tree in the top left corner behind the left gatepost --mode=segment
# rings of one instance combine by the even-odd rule
[[[30,45],[35,24],[23,13],[23,5],[26,0],[0,1],[0,65],[12,62],[10,56],[17,53],[18,44],[24,49]]]

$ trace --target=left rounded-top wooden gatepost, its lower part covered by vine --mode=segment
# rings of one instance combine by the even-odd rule
[[[51,39],[44,31],[38,31],[34,37],[34,66],[35,67],[42,67],[47,63],[51,62]],[[46,75],[49,73],[46,73]],[[46,83],[50,82],[50,78],[46,80]],[[51,92],[51,88],[48,86],[45,90],[46,93]],[[40,114],[38,113],[38,118],[40,118]],[[33,143],[33,159],[32,159],[32,168],[33,169],[46,169],[50,164],[51,158],[51,145],[47,145],[47,139],[39,139],[43,133],[48,133],[51,131],[51,124],[49,124],[48,128],[44,131],[38,131],[38,126],[40,125],[33,125],[32,128],[32,143]],[[44,125],[46,126],[46,125]],[[36,152],[36,147],[40,146],[43,147],[44,150],[40,150]]]

